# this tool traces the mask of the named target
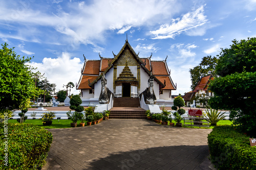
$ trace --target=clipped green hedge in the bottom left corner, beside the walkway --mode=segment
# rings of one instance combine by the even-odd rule
[[[5,128],[0,124],[0,169],[40,169],[46,163],[52,139],[51,132],[31,124],[7,124]]]

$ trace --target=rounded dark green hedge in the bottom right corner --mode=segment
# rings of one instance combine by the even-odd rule
[[[211,161],[218,169],[256,169],[256,147],[235,127],[215,127],[207,138]]]

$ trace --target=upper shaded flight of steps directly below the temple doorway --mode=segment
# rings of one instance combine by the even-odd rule
[[[113,107],[140,107],[139,98],[114,98]]]

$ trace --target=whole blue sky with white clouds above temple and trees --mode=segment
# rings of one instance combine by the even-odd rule
[[[256,37],[256,0],[1,1],[0,43],[57,85],[77,83],[83,55],[113,57],[126,34],[139,57],[164,60],[177,83],[190,91],[189,68],[216,56],[233,39]],[[73,93],[79,91],[73,89]]]

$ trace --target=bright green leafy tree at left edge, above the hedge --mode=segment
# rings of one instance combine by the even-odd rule
[[[7,43],[0,49],[0,112],[18,109],[42,93],[35,87],[34,68],[26,65],[31,58],[20,57],[13,49]]]

